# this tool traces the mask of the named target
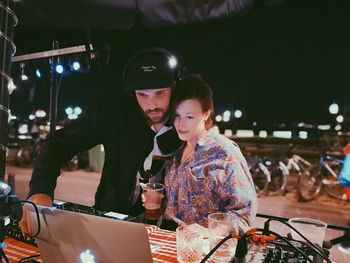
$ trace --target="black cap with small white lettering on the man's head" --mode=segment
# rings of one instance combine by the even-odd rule
[[[124,67],[124,87],[127,91],[170,87],[178,77],[177,71],[177,59],[169,51],[141,50]]]

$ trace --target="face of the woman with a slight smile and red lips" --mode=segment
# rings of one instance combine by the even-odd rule
[[[203,112],[201,103],[196,99],[182,101],[176,108],[174,126],[183,141],[196,141],[205,131],[205,121],[209,112]]]

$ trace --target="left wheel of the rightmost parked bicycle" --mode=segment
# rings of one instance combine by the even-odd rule
[[[301,201],[310,201],[315,198],[322,187],[321,167],[312,166],[301,173],[298,183],[298,194]]]

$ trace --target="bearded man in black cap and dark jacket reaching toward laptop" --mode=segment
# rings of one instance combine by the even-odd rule
[[[139,183],[156,180],[164,157],[180,146],[167,123],[177,72],[176,58],[164,49],[134,55],[123,72],[129,94],[121,92],[118,98],[103,101],[96,113],[49,137],[29,183],[29,200],[51,206],[60,167],[78,152],[102,144],[105,163],[96,209],[140,214]],[[20,225],[28,232],[25,215]]]

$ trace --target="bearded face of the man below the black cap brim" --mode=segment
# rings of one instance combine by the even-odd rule
[[[162,123],[167,117],[171,88],[136,90],[136,99],[149,120]]]

